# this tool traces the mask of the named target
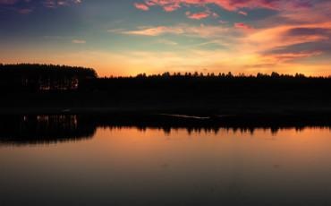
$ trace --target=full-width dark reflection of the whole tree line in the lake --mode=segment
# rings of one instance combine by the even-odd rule
[[[78,116],[78,115],[40,115],[40,116],[0,116],[0,144],[39,144],[70,142],[90,139],[98,127],[110,130],[136,128],[140,132],[148,129],[160,130],[169,135],[178,130],[192,133],[250,133],[256,130],[270,131],[295,129],[301,132],[307,127],[331,128],[329,124],[316,123],[272,123],[248,121],[220,121],[220,119],[189,119],[175,116]]]

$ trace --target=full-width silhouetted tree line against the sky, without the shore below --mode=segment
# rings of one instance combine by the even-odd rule
[[[241,94],[324,92],[331,89],[331,77],[311,77],[301,73],[140,73],[130,77],[98,78],[91,68],[55,64],[0,64],[2,91],[101,91],[118,98],[123,94],[163,96],[178,94]],[[310,92],[310,93],[311,93]]]

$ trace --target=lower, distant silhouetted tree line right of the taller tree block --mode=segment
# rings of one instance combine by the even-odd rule
[[[331,89],[330,77],[306,77],[303,74],[278,73],[257,75],[233,75],[232,73],[164,73],[139,74],[136,77],[98,78],[81,83],[82,91],[106,91],[111,95],[157,96],[159,98],[220,98],[225,95],[244,97],[272,96],[278,93],[327,94]]]

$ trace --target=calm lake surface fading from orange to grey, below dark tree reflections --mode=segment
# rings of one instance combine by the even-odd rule
[[[329,129],[98,127],[60,142],[2,138],[1,206],[331,205]]]

